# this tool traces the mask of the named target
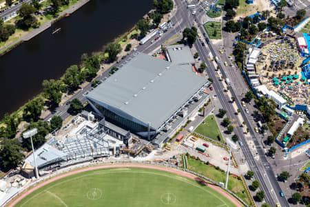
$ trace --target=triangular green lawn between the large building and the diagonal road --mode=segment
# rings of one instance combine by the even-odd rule
[[[216,141],[218,141],[218,134],[220,134],[220,142],[225,144],[225,140],[223,139],[223,135],[220,132],[220,128],[218,128],[218,124],[216,123],[214,115],[209,115],[207,118],[205,118],[205,124],[201,123],[196,128],[195,132]]]

